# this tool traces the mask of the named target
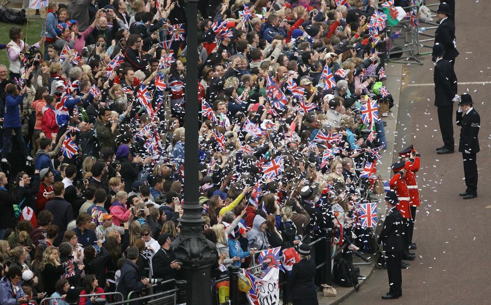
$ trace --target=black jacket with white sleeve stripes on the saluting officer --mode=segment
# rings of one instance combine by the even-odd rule
[[[481,117],[477,113],[476,109],[472,109],[471,112],[462,115],[462,112],[457,111],[457,125],[460,129],[459,140],[459,152],[464,150],[471,152],[472,154],[479,152],[479,128],[481,125]]]

